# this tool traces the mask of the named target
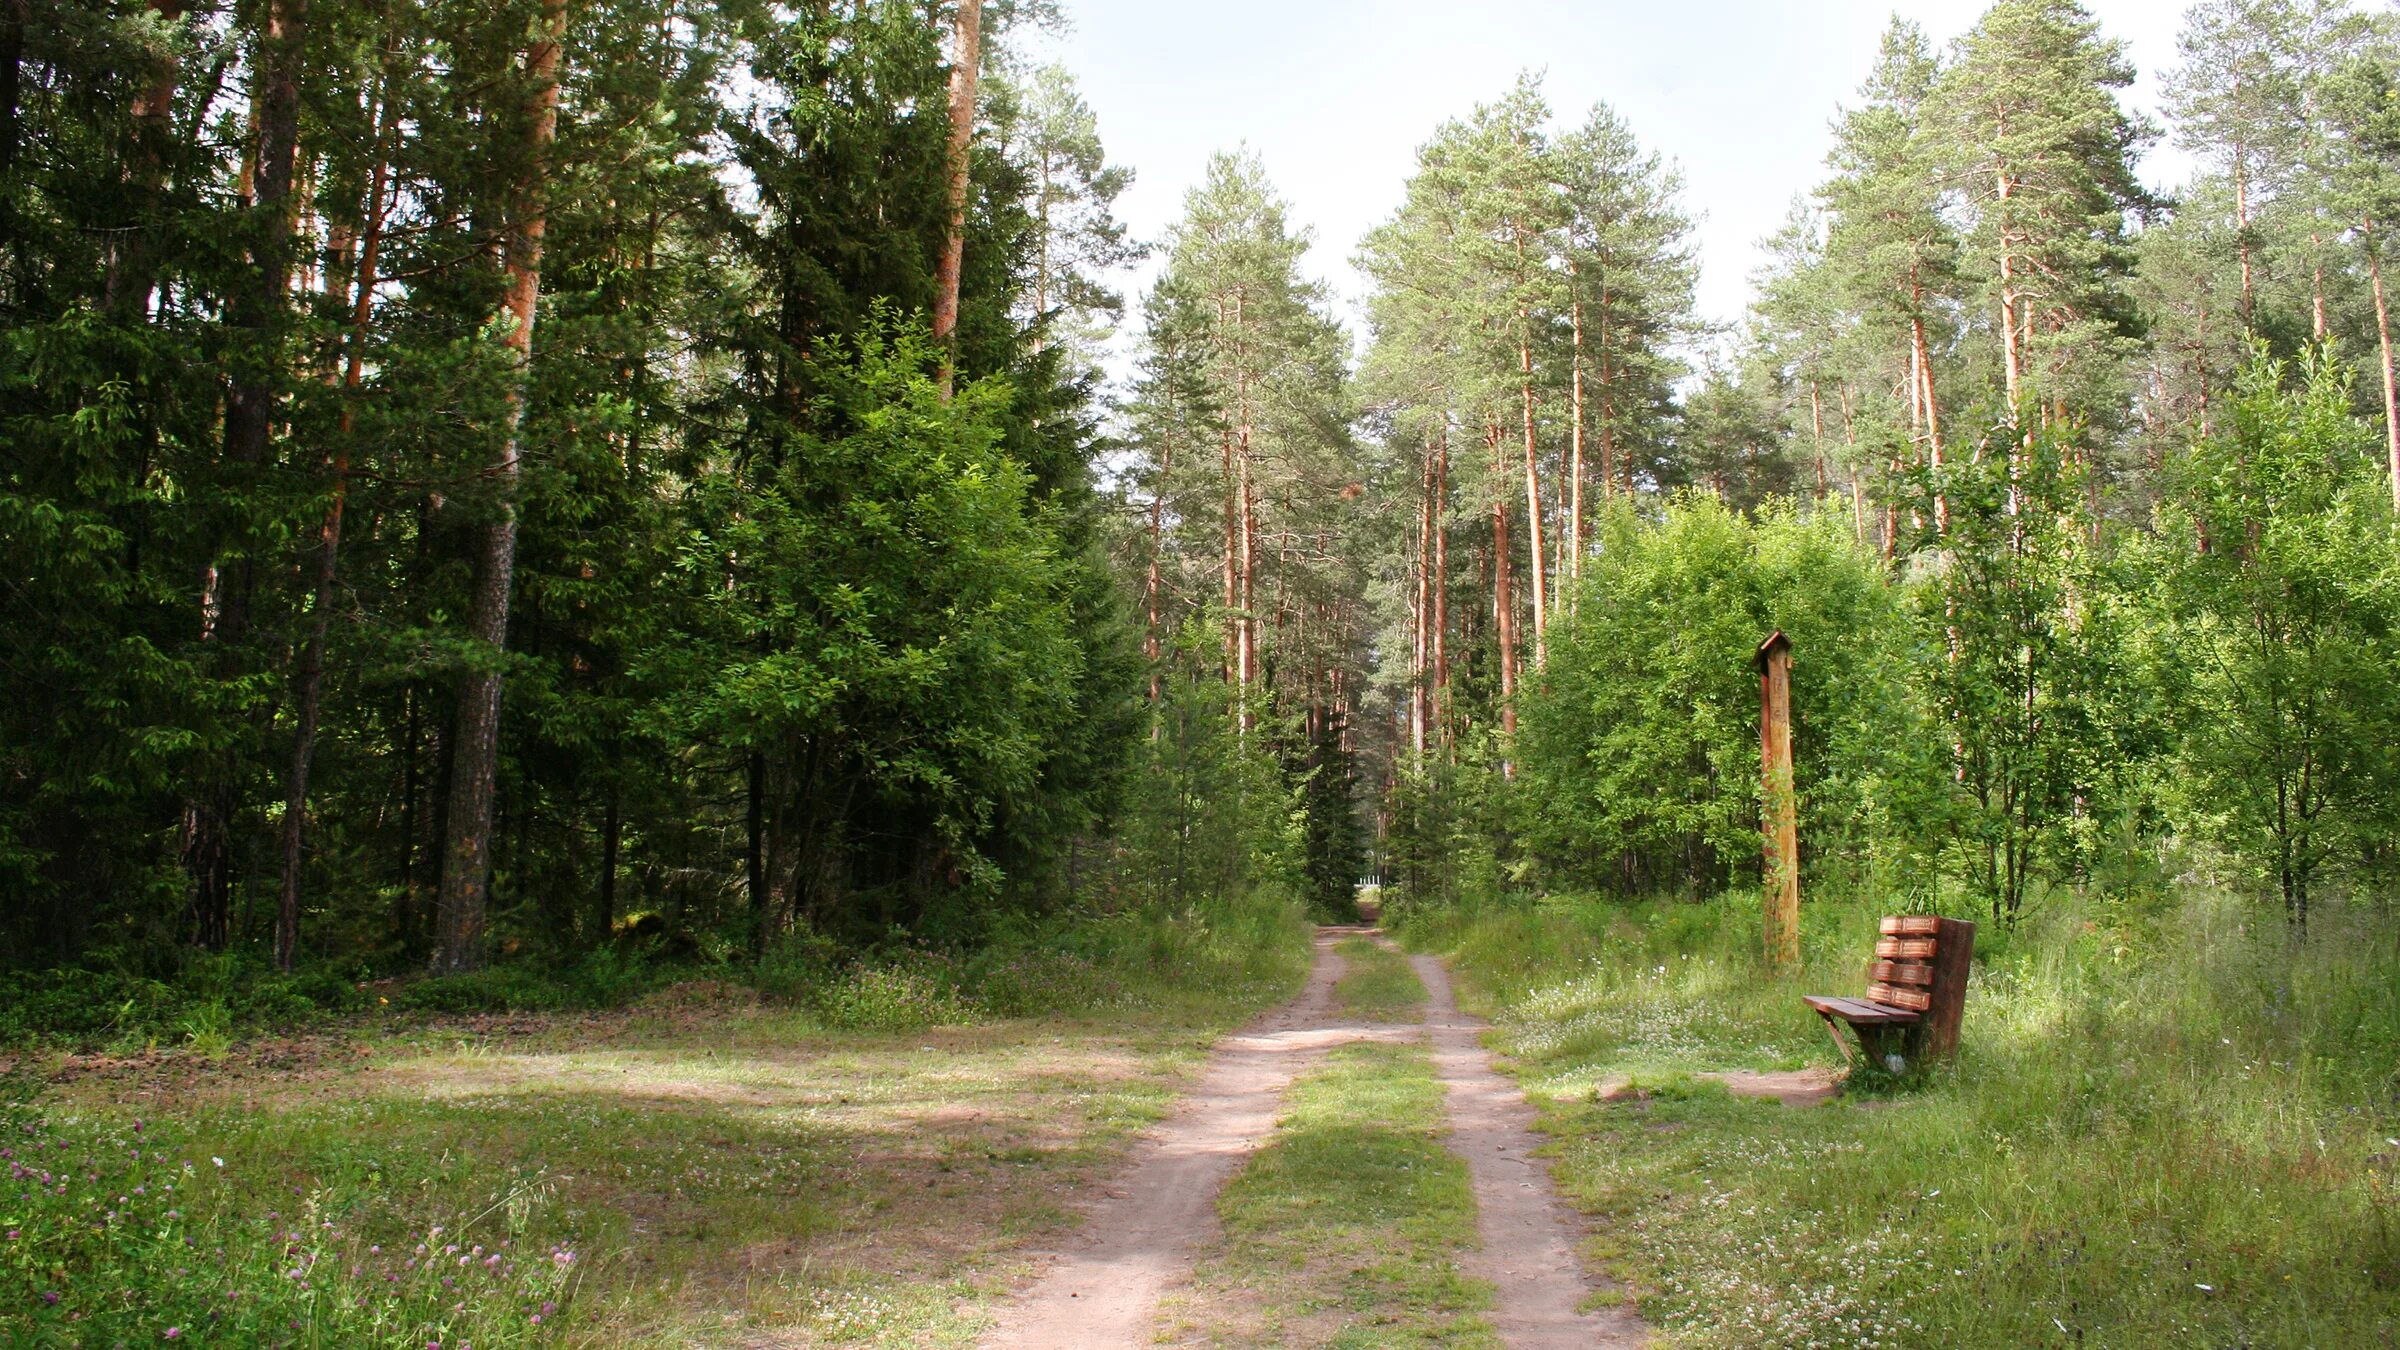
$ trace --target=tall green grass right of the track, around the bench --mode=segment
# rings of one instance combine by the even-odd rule
[[[1553,1172],[1678,1345],[2388,1345],[2400,1331],[2400,944],[2234,898],[2057,894],[1985,925],[1954,1069],[1826,1107],[1692,1074],[1836,1062],[1877,906],[1402,913],[1498,1023]],[[1603,1103],[1596,1088],[1630,1079]]]

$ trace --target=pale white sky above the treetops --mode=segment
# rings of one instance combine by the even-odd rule
[[[1582,120],[1608,101],[1685,175],[1699,216],[1699,307],[1735,322],[1759,240],[1824,175],[1829,120],[1874,60],[1891,12],[1946,46],[1982,0],[1061,0],[1056,55],[1099,113],[1109,159],[1135,171],[1118,216],[1159,238],[1217,149],[1260,154],[1294,219],[1315,233],[1310,271],[1354,319],[1361,235],[1402,199],[1416,147],[1498,98],[1519,70],[1546,72],[1550,108]],[[2086,0],[2131,43],[2153,113],[2174,62],[2184,0]],[[2189,161],[2165,139],[2143,178],[2165,187]],[[1154,267],[1154,264],[1152,264]],[[1128,288],[1147,283],[1150,269]],[[1130,315],[1128,315],[1130,319]],[[1130,327],[1130,324],[1128,324]]]

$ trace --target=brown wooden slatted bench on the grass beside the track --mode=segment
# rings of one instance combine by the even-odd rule
[[[1963,918],[1891,915],[1882,920],[1867,997],[1802,994],[1817,1009],[1843,1062],[1850,1038],[1870,1059],[1898,1074],[1922,1059],[1958,1052],[1958,1019],[1966,1014],[1968,963],[1975,958],[1975,925]]]

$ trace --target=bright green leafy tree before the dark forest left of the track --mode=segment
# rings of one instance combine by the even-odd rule
[[[1080,711],[1075,560],[998,447],[1006,387],[943,401],[890,327],[806,370],[809,416],[691,495],[677,572],[708,641],[667,716],[763,759],[768,829],[794,838],[768,894],[833,922],[830,886],[912,886],[878,906],[910,922],[926,874],[991,896],[986,841]]]

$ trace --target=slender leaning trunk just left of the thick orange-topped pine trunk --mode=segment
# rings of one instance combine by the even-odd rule
[[[384,247],[384,187],[389,180],[389,144],[394,101],[384,82],[377,115],[377,156],[367,175],[367,209],[360,223],[358,281],[350,300],[350,351],[341,372],[341,425],[334,435],[334,500],[317,531],[317,584],[312,591],[310,637],[300,656],[300,689],[293,728],[293,761],[283,778],[283,894],[276,906],[276,966],[293,968],[300,946],[300,853],[307,826],[307,778],[317,757],[317,718],[324,709],[324,644],[334,620],[334,569],[341,557],[341,512],[350,495],[350,437],[355,430],[358,387],[367,370],[367,324],[374,319],[374,269]]]

